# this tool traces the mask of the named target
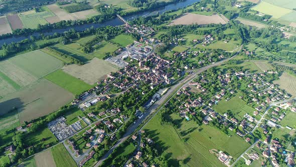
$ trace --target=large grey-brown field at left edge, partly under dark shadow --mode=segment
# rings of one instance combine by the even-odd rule
[[[52,82],[41,79],[0,100],[3,115],[14,108],[19,110],[20,122],[47,115],[73,100],[74,96]]]

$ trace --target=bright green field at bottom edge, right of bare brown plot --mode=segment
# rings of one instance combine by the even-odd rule
[[[57,166],[77,166],[63,144],[56,145],[51,149],[51,151]]]

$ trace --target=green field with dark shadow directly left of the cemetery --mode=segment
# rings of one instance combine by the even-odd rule
[[[43,138],[45,138],[46,140],[42,141]],[[35,132],[32,135],[28,135],[26,137],[25,143],[27,145],[36,144],[39,147],[41,147],[41,145],[43,145],[43,144],[47,145],[50,143],[54,143],[56,141],[57,141],[57,139],[53,135],[53,133],[48,128],[44,128],[44,129],[40,129],[39,131]]]

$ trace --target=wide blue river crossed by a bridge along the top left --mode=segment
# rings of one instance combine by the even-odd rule
[[[179,2],[179,3],[175,3],[175,4],[169,4],[169,5],[162,7],[162,8],[157,8],[157,9],[150,10],[150,11],[136,13],[136,14],[129,15],[129,16],[126,16],[123,18],[125,20],[132,20],[132,19],[135,19],[140,16],[149,16],[151,14],[156,14],[156,13],[162,14],[166,11],[177,10],[177,9],[180,9],[183,7],[187,7],[189,5],[192,5],[195,2],[199,2],[199,1],[200,0],[186,0],[186,1]],[[100,27],[104,27],[104,26],[119,26],[122,24],[123,23],[118,18],[115,18],[113,20],[109,20],[104,23],[83,24],[83,25],[75,25],[75,26],[64,27],[64,28],[44,30],[44,31],[35,32],[33,34],[29,34],[29,35],[18,35],[18,36],[12,36],[9,38],[2,39],[2,40],[0,40],[0,45],[2,46],[4,43],[9,44],[12,42],[18,42],[18,41],[29,38],[29,36],[31,36],[31,35],[38,36],[41,33],[44,35],[53,35],[54,33],[63,33],[65,31],[69,31],[72,28],[74,28],[76,31],[83,31],[83,30],[90,28],[92,26],[94,28],[100,28]]]

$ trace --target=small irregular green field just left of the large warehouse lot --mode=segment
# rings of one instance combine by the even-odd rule
[[[99,49],[94,51],[92,55],[100,59],[103,59],[106,56],[106,53],[112,53],[118,49],[116,45],[113,45],[106,41],[101,42],[98,47]]]

